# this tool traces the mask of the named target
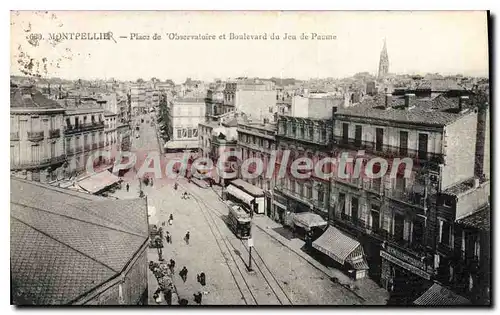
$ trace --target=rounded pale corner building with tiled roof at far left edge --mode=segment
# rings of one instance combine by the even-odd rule
[[[11,85],[10,168],[14,176],[51,182],[64,175],[64,108],[33,86]]]

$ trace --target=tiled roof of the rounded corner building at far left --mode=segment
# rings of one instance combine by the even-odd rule
[[[11,108],[62,109],[61,105],[33,87],[11,87]]]

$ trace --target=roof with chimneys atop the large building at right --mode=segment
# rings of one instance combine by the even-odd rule
[[[458,112],[458,102],[443,95],[434,98],[415,98],[410,109],[404,109],[404,104],[404,96],[393,95],[391,107],[386,109],[385,96],[377,95],[374,98],[367,97],[357,105],[339,108],[335,115],[435,126],[448,125],[464,115]],[[470,105],[464,104],[463,108],[470,108]]]

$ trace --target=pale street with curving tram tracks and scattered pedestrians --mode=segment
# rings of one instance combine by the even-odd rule
[[[141,124],[140,137],[132,141],[132,150],[141,155],[159,150],[154,127],[147,123]],[[130,191],[123,189],[115,196],[137,198],[140,184],[135,172],[128,172],[124,181],[129,183]],[[359,296],[332,282],[326,274],[256,227],[252,228],[253,271],[248,271],[247,241],[236,238],[226,225],[228,211],[215,191],[188,183],[184,178],[178,179],[178,190],[174,190],[174,182],[155,179],[152,187],[142,189],[148,206],[156,208],[153,220],[157,222],[151,224],[161,225],[173,215],[173,225],[166,223],[165,228],[172,235],[172,244],[165,242],[163,257],[176,262],[173,280],[179,299],[194,304],[193,294],[202,292],[202,305],[363,304]],[[183,199],[183,192],[190,197]],[[184,241],[188,231],[189,244]],[[150,249],[150,260],[158,260],[156,250]],[[186,282],[178,274],[184,266],[188,270]],[[196,276],[201,272],[206,274],[206,286],[197,282]],[[156,304],[152,299],[157,289],[156,279],[152,273],[150,278],[149,301]]]

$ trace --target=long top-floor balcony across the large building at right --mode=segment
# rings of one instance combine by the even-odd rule
[[[427,151],[419,151],[413,149],[405,149],[397,146],[382,145],[379,148],[376,147],[373,141],[360,141],[356,139],[345,139],[340,136],[333,137],[334,144],[339,148],[351,149],[351,150],[365,150],[376,156],[386,157],[386,158],[411,158],[419,164],[439,165],[444,163],[443,154],[431,153]]]

